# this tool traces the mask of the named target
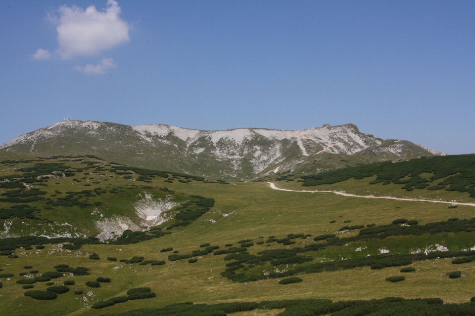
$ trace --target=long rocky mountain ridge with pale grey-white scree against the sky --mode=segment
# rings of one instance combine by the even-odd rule
[[[353,124],[273,130],[238,128],[202,131],[163,124],[128,126],[109,122],[63,120],[21,135],[0,151],[41,156],[93,155],[148,169],[192,173],[225,180],[246,180],[272,170],[302,174],[344,167],[322,157],[338,155],[355,163],[433,156],[404,140],[383,140]]]

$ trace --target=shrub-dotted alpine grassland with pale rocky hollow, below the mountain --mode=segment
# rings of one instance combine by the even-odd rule
[[[464,176],[428,171],[396,181]],[[0,152],[0,314],[473,313],[475,207],[439,202],[475,203],[472,180],[407,191],[376,173],[305,187],[277,173],[223,182]]]

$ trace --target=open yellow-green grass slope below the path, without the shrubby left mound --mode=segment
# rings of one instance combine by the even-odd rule
[[[304,233],[317,236],[337,231],[343,226],[343,221],[346,219],[352,220],[351,224],[358,225],[387,224],[400,217],[418,219],[420,224],[441,221],[448,217],[471,218],[475,216],[473,207],[459,206],[455,209],[447,209],[447,206],[443,204],[424,202],[367,200],[333,194],[281,192],[269,189],[266,183],[218,185],[194,181],[191,184],[169,184],[161,181],[154,180],[153,185],[166,184],[168,188],[176,192],[213,197],[216,199],[215,207],[186,228],[180,228],[171,235],[138,244],[127,246],[85,245],[79,251],[48,254],[52,249],[58,248],[49,245],[44,250],[17,251],[18,259],[7,259],[1,256],[2,273],[14,273],[15,276],[10,281],[5,278],[1,280],[3,288],[0,289],[2,297],[0,313],[2,315],[65,315],[77,311],[73,315],[100,315],[184,301],[216,303],[230,300],[260,301],[300,297],[343,300],[385,296],[407,298],[436,296],[447,302],[464,302],[474,295],[475,264],[455,266],[450,263],[449,259],[416,262],[414,267],[418,271],[407,275],[406,281],[394,284],[385,282],[384,279],[387,276],[398,275],[400,268],[382,270],[358,268],[340,272],[309,274],[301,276],[304,279],[301,283],[283,286],[277,284],[276,279],[249,283],[232,282],[220,276],[220,272],[225,269],[223,256],[209,254],[194,264],[189,264],[187,260],[172,263],[166,260],[169,253],[159,252],[160,249],[171,246],[179,250],[180,253],[190,253],[192,250],[198,249],[198,245],[203,242],[223,247],[228,242],[236,245],[236,242],[242,238],[251,238],[257,241],[261,236],[270,235],[284,237],[290,233]],[[370,180],[350,181],[369,182]],[[277,185],[291,187],[298,184],[278,182]],[[321,189],[321,187],[316,189]],[[389,187],[389,185],[384,186],[386,190],[385,187]],[[414,193],[414,191],[400,190],[399,187],[397,190],[393,190],[394,194],[410,196],[411,193]],[[299,188],[301,187],[299,186]],[[368,185],[366,190],[371,188],[374,186]],[[223,216],[223,213],[230,215]],[[216,222],[209,221],[211,219]],[[336,220],[336,223],[330,224],[331,220]],[[356,232],[348,235],[353,234]],[[317,261],[340,259],[340,257],[354,258],[367,254],[376,255],[380,248],[390,249],[393,253],[407,253],[411,248],[423,248],[435,243],[443,244],[450,250],[460,250],[475,245],[474,235],[473,233],[460,233],[421,237],[390,237],[366,243],[350,243],[348,246],[342,247],[329,247],[318,253],[310,254]],[[312,239],[296,239],[296,241],[296,245],[313,242]],[[355,252],[355,249],[361,246],[367,248],[364,251]],[[255,245],[249,248],[249,251],[253,254],[262,249],[281,247],[283,247],[281,244],[275,243],[269,247],[266,244]],[[99,261],[88,259],[87,254],[92,252],[98,253],[101,259]],[[122,259],[134,255],[142,255],[145,259],[166,260],[167,265],[151,267],[105,260],[107,256]],[[76,281],[76,285],[70,286],[70,288],[72,290],[82,289],[85,294],[91,290],[94,296],[74,295],[72,292],[68,292],[58,295],[58,299],[54,301],[42,302],[23,296],[25,290],[21,288],[21,285],[14,283],[20,278],[18,273],[24,271],[22,269],[24,265],[32,265],[41,273],[53,270],[52,266],[59,263],[90,267],[91,276],[72,277]],[[113,269],[118,266],[123,268]],[[269,269],[269,267],[258,268]],[[455,280],[444,277],[447,272],[454,269],[463,271],[467,277]],[[111,277],[112,282],[103,284],[99,289],[87,288],[84,285],[85,281],[93,280],[97,276]],[[64,279],[66,277],[56,279],[55,283],[62,283]],[[91,302],[124,295],[127,289],[142,285],[150,286],[157,297],[149,300],[129,301],[98,311],[86,307]],[[35,289],[44,288],[46,288],[45,283],[35,284]],[[88,303],[84,302],[84,296],[88,298]],[[242,315],[251,314],[243,313]]]

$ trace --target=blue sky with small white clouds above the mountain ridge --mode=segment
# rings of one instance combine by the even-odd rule
[[[0,1],[0,143],[63,118],[474,153],[475,1]]]

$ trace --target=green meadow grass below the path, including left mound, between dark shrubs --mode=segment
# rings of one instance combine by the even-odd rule
[[[173,223],[181,223],[175,216],[181,206],[174,206],[164,212],[171,220],[157,225],[160,232],[171,233],[160,237],[150,237],[132,244],[85,243],[78,249],[63,248],[64,241],[60,243],[44,243],[44,249],[37,249],[37,244],[32,244],[32,249],[26,245],[16,248],[13,253],[0,256],[0,274],[13,274],[10,277],[0,277],[0,313],[1,315],[104,315],[122,313],[135,309],[164,307],[169,304],[193,302],[194,304],[218,304],[226,302],[261,302],[272,300],[293,300],[302,298],[331,299],[332,301],[344,300],[369,300],[384,297],[402,298],[432,298],[437,297],[445,303],[465,303],[475,296],[475,263],[452,264],[458,256],[449,258],[430,258],[426,260],[413,260],[409,265],[389,266],[382,269],[372,269],[370,266],[361,266],[354,269],[335,269],[316,273],[298,273],[301,282],[279,284],[280,277],[266,279],[233,281],[223,276],[227,269],[226,264],[232,262],[225,260],[227,254],[214,255],[218,250],[240,247],[238,243],[251,239],[253,243],[246,248],[249,255],[257,256],[258,252],[265,250],[285,249],[295,247],[310,247],[323,241],[314,241],[314,237],[334,234],[339,240],[353,238],[343,244],[331,244],[328,241],[318,250],[309,250],[303,253],[311,257],[310,261],[273,265],[271,261],[259,263],[243,263],[242,268],[236,273],[243,275],[258,275],[272,272],[306,267],[317,263],[336,263],[345,260],[365,258],[382,258],[381,251],[388,250],[387,255],[404,255],[424,251],[434,251],[438,246],[443,246],[450,251],[463,252],[475,246],[475,231],[441,231],[433,234],[401,235],[385,238],[371,237],[356,240],[361,229],[342,230],[343,226],[376,224],[376,226],[391,224],[393,220],[404,218],[417,220],[419,226],[427,223],[443,222],[448,219],[458,218],[470,220],[475,217],[475,207],[459,205],[448,208],[449,204],[430,203],[419,201],[368,199],[359,197],[343,197],[332,193],[305,193],[284,192],[272,190],[266,182],[233,182],[219,183],[218,179],[187,179],[187,175],[172,175],[167,177],[155,175],[148,180],[139,181],[139,172],[130,171],[130,179],[123,174],[117,174],[111,164],[96,158],[83,157],[57,157],[52,159],[39,159],[29,156],[13,157],[2,153],[0,178],[24,173],[17,171],[19,168],[35,166],[35,163],[64,163],[73,170],[74,176],[60,176],[58,172],[51,173],[51,177],[43,182],[33,182],[22,192],[38,188],[46,191],[41,197],[45,199],[28,202],[28,205],[41,209],[34,212],[35,218],[26,218],[21,215],[11,216],[0,220],[0,234],[2,238],[28,236],[41,231],[47,234],[61,232],[61,234],[77,233],[78,237],[96,236],[100,233],[95,225],[104,218],[120,215],[130,218],[137,226],[143,221],[138,219],[134,205],[145,194],[159,200],[170,198],[176,205],[183,205],[194,201],[190,196],[214,198],[212,207],[191,220],[186,226],[177,226],[167,229]],[[19,162],[19,159],[38,159],[43,161]],[[97,162],[94,164],[82,163],[85,161]],[[117,165],[116,165],[117,166]],[[87,169],[86,167],[91,167]],[[125,166],[124,166],[124,169]],[[82,170],[78,172],[78,170]],[[121,169],[122,170],[122,169]],[[68,171],[61,171],[62,173]],[[124,171],[127,172],[127,171]],[[89,174],[85,174],[89,173]],[[148,173],[153,175],[152,173]],[[430,176],[430,175],[427,175]],[[42,179],[44,175],[36,178]],[[85,178],[85,179],[84,179]],[[373,178],[376,178],[374,176]],[[380,195],[393,197],[427,198],[427,199],[457,199],[464,202],[474,202],[475,198],[467,193],[448,192],[444,190],[401,190],[402,185],[388,184],[370,185],[373,178],[362,180],[349,179],[328,185],[302,187],[297,181],[277,181],[276,186],[291,190],[328,190],[345,191],[358,195]],[[4,183],[14,182],[9,178]],[[73,180],[76,179],[76,180]],[[168,180],[172,179],[172,180]],[[21,181],[18,180],[20,183]],[[44,182],[47,180],[47,182]],[[165,182],[168,181],[168,182]],[[179,182],[178,180],[182,180]],[[187,181],[191,180],[191,181]],[[78,182],[80,181],[80,182]],[[88,184],[88,186],[85,186]],[[168,191],[164,191],[163,188]],[[100,188],[100,190],[98,189]],[[1,193],[8,193],[18,188],[2,188]],[[76,202],[83,201],[84,207],[51,206],[58,197],[66,197],[66,192],[80,192],[82,194]],[[100,195],[96,193],[100,191]],[[105,191],[105,192],[104,192]],[[112,192],[111,192],[112,191]],[[57,192],[61,192],[58,194]],[[1,194],[0,193],[0,194]],[[52,197],[52,195],[55,195]],[[93,196],[94,195],[94,196]],[[75,196],[76,198],[77,196]],[[47,200],[49,198],[49,200]],[[53,202],[49,202],[53,200]],[[95,204],[94,204],[95,203]],[[57,203],[59,204],[59,203]],[[13,209],[18,205],[13,202],[1,202],[0,208]],[[196,204],[197,205],[197,204]],[[194,207],[194,206],[189,206]],[[197,206],[196,206],[197,207]],[[94,213],[94,214],[93,214]],[[97,214],[101,214],[100,215]],[[331,223],[332,222],[332,223]],[[64,225],[68,223],[70,226]],[[64,230],[64,228],[67,228]],[[6,228],[8,232],[6,232]],[[1,231],[3,229],[3,231]],[[146,226],[142,226],[147,230]],[[144,233],[152,236],[151,233]],[[302,234],[304,237],[291,239],[289,244],[279,242],[266,242],[270,237],[285,239],[289,234]],[[306,235],[311,235],[307,236]],[[52,236],[52,235],[51,235]],[[75,235],[73,234],[72,237]],[[117,236],[118,237],[118,236]],[[203,250],[202,244],[219,246],[208,254],[196,255],[190,258],[197,259],[190,263],[190,258],[171,261],[169,255],[178,251],[177,255],[190,255],[193,251]],[[232,244],[232,246],[227,246]],[[173,251],[160,252],[164,248],[173,248]],[[310,248],[307,248],[310,249]],[[359,249],[359,250],[358,250]],[[426,249],[426,250],[425,250]],[[428,250],[427,250],[428,249]],[[358,251],[357,251],[358,250]],[[91,254],[97,254],[100,259],[90,259]],[[442,252],[441,252],[442,253]],[[17,256],[17,257],[16,257]],[[151,265],[121,262],[121,259],[130,260],[134,256],[141,256],[144,261],[165,261],[162,265]],[[16,257],[16,258],[15,258]],[[107,260],[114,257],[117,261]],[[56,271],[54,266],[68,265],[69,267],[88,268],[89,275],[76,275],[64,273],[63,276],[52,278],[49,286],[63,285],[65,280],[74,280],[73,285],[68,285],[69,291],[57,294],[53,300],[38,300],[25,296],[28,290],[46,290],[47,282],[33,283],[33,288],[24,289],[23,284],[16,281],[27,279],[19,276],[20,273],[38,270],[38,275],[48,271]],[[32,268],[24,269],[25,266]],[[402,274],[401,268],[414,267],[415,271]],[[448,274],[461,271],[462,277],[450,278]],[[27,274],[28,276],[29,274]],[[388,282],[389,276],[404,275],[401,282]],[[110,278],[110,282],[101,282],[100,287],[89,287],[87,281],[95,281],[97,277]],[[127,296],[126,292],[132,288],[149,287],[156,296],[148,299],[128,300],[101,309],[91,308],[97,302],[113,297]],[[82,294],[74,294],[82,291]],[[284,309],[256,310],[240,312],[235,315],[277,315]]]

